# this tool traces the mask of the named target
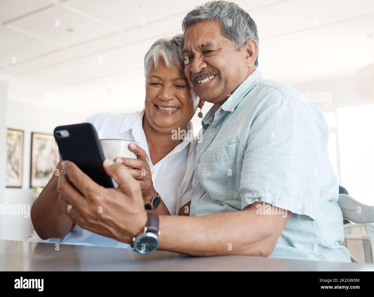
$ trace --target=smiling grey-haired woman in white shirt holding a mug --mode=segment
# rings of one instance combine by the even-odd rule
[[[173,132],[192,131],[190,120],[204,102],[192,92],[184,75],[182,47],[183,34],[178,34],[170,40],[157,40],[145,54],[145,108],[142,111],[102,113],[85,121],[95,126],[102,139],[126,139],[140,144],[129,146],[138,159],[117,158],[116,162],[133,168],[129,172],[140,183],[145,208],[155,214],[189,214],[196,141],[193,137],[175,137]],[[56,172],[62,171],[61,161],[56,169]],[[58,203],[58,178],[53,174],[31,208],[31,220],[41,239],[129,247],[74,224]]]

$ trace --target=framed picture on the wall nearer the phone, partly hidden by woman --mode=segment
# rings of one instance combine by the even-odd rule
[[[30,188],[44,187],[58,163],[57,145],[52,134],[31,133]]]

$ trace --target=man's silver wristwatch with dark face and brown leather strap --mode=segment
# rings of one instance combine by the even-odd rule
[[[159,246],[159,217],[150,211],[147,212],[147,216],[144,232],[132,238],[134,250],[141,254],[152,253]]]

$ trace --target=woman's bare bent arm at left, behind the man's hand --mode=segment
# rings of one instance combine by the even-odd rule
[[[61,172],[61,165],[57,168]],[[74,227],[58,202],[58,176],[53,175],[31,207],[31,221],[41,239],[62,238]]]

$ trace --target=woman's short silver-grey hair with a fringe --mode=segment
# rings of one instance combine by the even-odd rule
[[[177,66],[184,72],[184,61],[182,55],[183,34],[177,34],[171,38],[160,38],[156,40],[144,56],[144,75],[147,79],[152,68],[159,65],[159,59],[162,57],[167,68]],[[146,83],[147,84],[147,83]],[[193,99],[198,98],[191,89]]]

